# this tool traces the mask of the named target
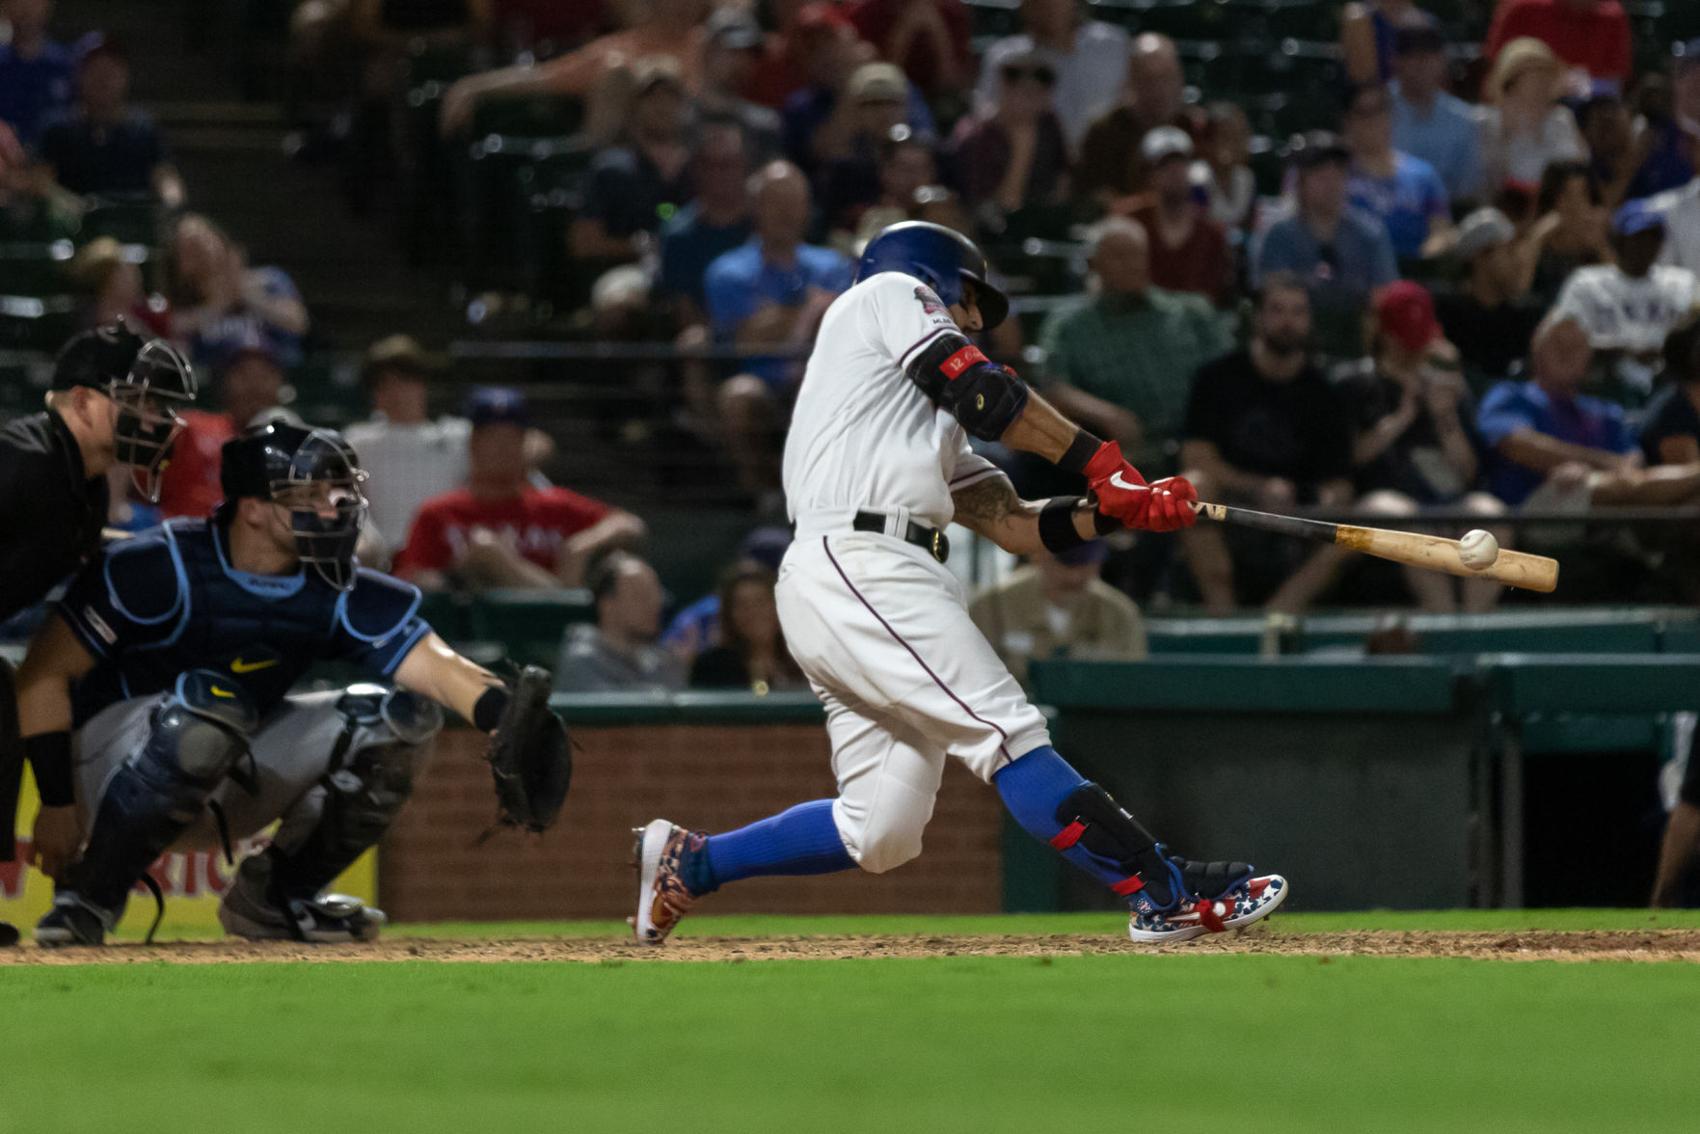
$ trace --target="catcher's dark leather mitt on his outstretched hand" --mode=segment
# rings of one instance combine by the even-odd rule
[[[573,748],[566,723],[549,711],[549,670],[529,665],[513,683],[496,734],[490,738],[490,772],[496,780],[498,826],[546,831],[573,782]]]

